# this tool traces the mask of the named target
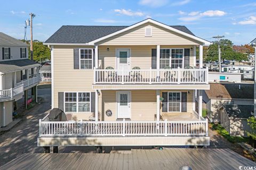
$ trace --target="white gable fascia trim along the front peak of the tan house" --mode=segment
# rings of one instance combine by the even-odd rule
[[[95,40],[89,42],[88,44],[89,44],[89,45],[94,45],[94,43],[97,43],[97,42],[99,42],[99,41],[101,41],[101,40],[104,40],[104,39],[106,39],[106,38],[115,36],[115,35],[117,35],[118,33],[122,33],[122,32],[124,32],[124,31],[127,31],[127,30],[130,30],[130,29],[132,29],[132,28],[138,27],[139,25],[142,25],[142,24],[147,23],[147,22],[151,22],[151,23],[153,23],[153,24],[159,25],[159,26],[161,26],[161,27],[163,27],[163,28],[166,28],[166,29],[168,29],[168,30],[171,30],[171,31],[173,31],[173,32],[177,32],[177,33],[180,33],[181,35],[184,35],[184,36],[186,36],[186,37],[189,37],[189,38],[192,38],[192,39],[194,39],[194,40],[197,40],[197,41],[203,43],[204,46],[209,46],[209,45],[211,45],[211,42],[210,42],[210,41],[206,41],[206,40],[204,40],[204,39],[202,39],[202,38],[199,38],[199,37],[190,35],[189,33],[186,33],[186,32],[180,31],[180,30],[177,30],[177,29],[175,29],[175,28],[170,27],[169,25],[163,24],[163,23],[161,23],[161,22],[157,22],[157,21],[152,20],[152,19],[147,19],[147,20],[141,21],[141,22],[139,22],[139,23],[133,24],[133,25],[131,25],[130,27],[127,27],[127,28],[124,28],[124,29],[122,29],[122,30],[116,31],[116,32],[114,32],[114,33],[111,33],[110,35],[101,37],[101,38],[99,38],[99,39],[95,39]]]

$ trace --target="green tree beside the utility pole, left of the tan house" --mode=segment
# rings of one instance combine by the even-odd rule
[[[28,45],[30,45],[30,41],[26,40],[21,40]],[[30,58],[30,50],[28,50],[28,55]],[[43,62],[45,60],[50,60],[51,59],[51,50],[43,45],[43,42],[38,41],[38,40],[33,40],[33,54],[34,54],[34,60],[37,62]]]

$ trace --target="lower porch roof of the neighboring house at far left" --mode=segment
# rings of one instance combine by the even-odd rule
[[[38,66],[40,66],[40,64],[34,61],[31,61],[29,59],[9,60],[9,61],[0,62],[0,72],[10,73],[10,72],[26,69],[27,67],[38,67]]]

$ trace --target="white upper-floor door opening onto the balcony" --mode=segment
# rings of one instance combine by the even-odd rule
[[[130,49],[117,49],[117,69],[130,70]]]

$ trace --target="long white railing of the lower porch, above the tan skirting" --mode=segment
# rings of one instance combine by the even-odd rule
[[[204,121],[66,121],[39,120],[39,137],[139,137],[208,136]]]

